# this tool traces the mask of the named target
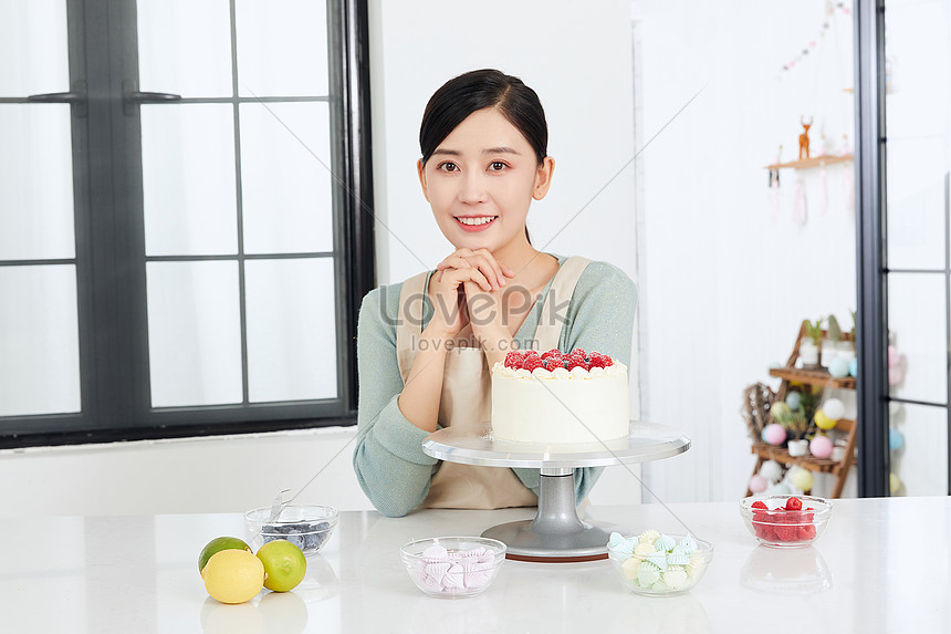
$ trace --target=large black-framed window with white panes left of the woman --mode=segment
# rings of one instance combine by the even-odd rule
[[[366,3],[0,0],[0,443],[346,424]]]

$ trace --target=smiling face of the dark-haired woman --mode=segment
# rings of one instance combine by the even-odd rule
[[[541,200],[554,160],[539,165],[522,133],[495,108],[469,115],[429,157],[419,181],[443,236],[492,253],[524,243],[532,199]]]

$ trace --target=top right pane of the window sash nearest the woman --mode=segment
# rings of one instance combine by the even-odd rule
[[[237,0],[234,10],[240,95],[327,94],[325,0]]]

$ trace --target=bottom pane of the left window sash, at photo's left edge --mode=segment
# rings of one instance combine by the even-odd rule
[[[0,416],[80,412],[73,264],[0,267]]]

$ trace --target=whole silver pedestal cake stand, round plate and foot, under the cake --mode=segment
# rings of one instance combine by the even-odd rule
[[[575,508],[576,467],[650,462],[690,448],[690,438],[680,432],[640,420],[630,422],[628,437],[604,443],[513,443],[492,438],[489,430],[488,424],[462,430],[446,427],[427,436],[422,450],[449,462],[540,469],[535,519],[506,522],[482,533],[504,542],[506,558],[518,561],[566,563],[606,559],[610,533],[630,532],[581,520]]]

